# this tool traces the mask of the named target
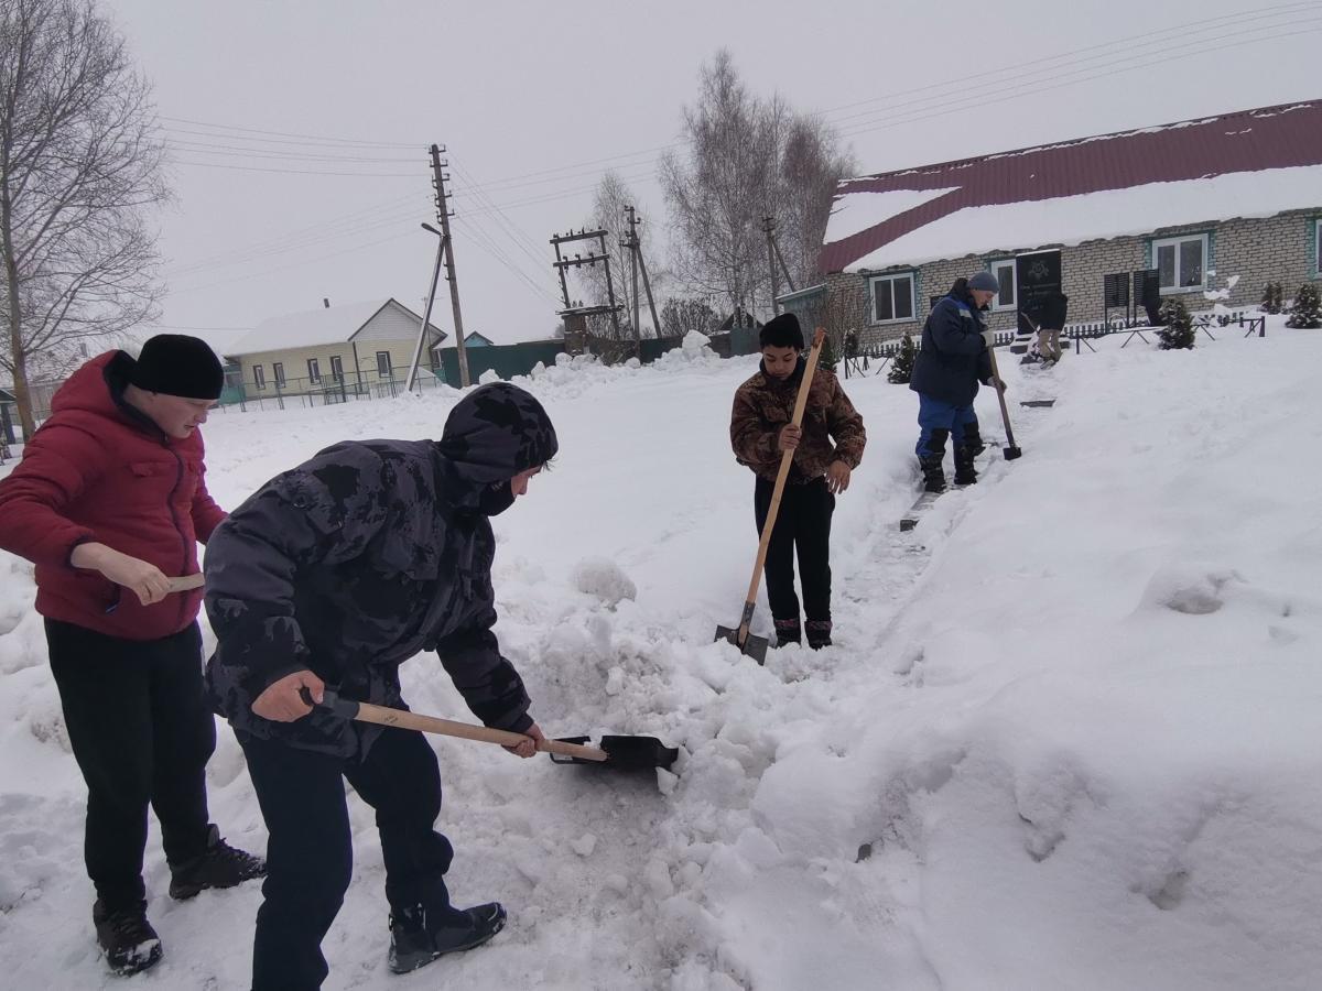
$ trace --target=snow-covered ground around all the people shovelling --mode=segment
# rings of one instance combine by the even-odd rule
[[[1219,337],[1009,365],[1025,457],[910,534],[915,396],[850,379],[870,440],[836,517],[836,646],[764,669],[711,642],[755,552],[727,443],[754,359],[539,377],[562,453],[496,521],[498,633],[547,732],[658,736],[677,776],[436,739],[451,887],[510,925],[387,975],[379,848],[350,801],[327,986],[1317,987],[1322,334]],[[217,414],[212,490],[234,505],[344,437],[435,436],[452,402]],[[1001,436],[986,391],[980,412]],[[93,942],[30,571],[0,555],[0,983],[123,987]],[[435,657],[405,684],[471,719]],[[209,774],[214,819],[260,850],[225,727]],[[167,881],[153,834],[165,959],[134,986],[246,987],[256,887],[176,904]]]

